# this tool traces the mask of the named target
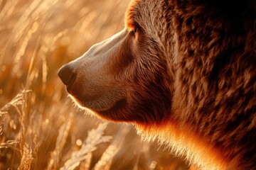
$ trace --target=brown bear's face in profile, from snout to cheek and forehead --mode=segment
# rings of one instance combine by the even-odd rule
[[[122,31],[59,70],[79,106],[107,120],[147,125],[169,116],[174,76],[166,35],[171,35],[163,4],[156,6],[132,2]]]

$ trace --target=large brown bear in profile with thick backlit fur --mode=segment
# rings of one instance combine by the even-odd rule
[[[134,0],[125,28],[58,75],[81,108],[196,169],[256,169],[254,0]]]

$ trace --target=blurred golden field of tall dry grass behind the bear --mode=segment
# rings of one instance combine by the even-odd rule
[[[75,108],[58,69],[124,27],[129,0],[0,0],[0,169],[187,169],[132,125]]]

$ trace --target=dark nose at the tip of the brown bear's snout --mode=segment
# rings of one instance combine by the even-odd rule
[[[65,64],[58,70],[58,77],[63,81],[63,84],[70,86],[75,82],[76,73],[73,72],[73,68],[69,64]]]

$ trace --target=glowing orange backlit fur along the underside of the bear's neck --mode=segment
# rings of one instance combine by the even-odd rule
[[[204,141],[189,125],[182,127],[176,123],[164,125],[137,125],[137,132],[144,140],[158,140],[160,145],[167,145],[171,153],[185,156],[189,164],[197,169],[227,169],[228,160],[220,149]]]

